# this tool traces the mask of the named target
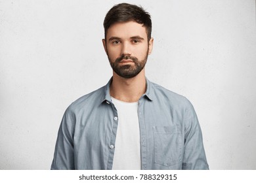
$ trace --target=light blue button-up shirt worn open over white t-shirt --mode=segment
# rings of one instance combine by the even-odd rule
[[[110,97],[111,82],[67,108],[51,169],[112,169],[118,112]],[[146,80],[138,115],[141,169],[209,169],[188,99]]]

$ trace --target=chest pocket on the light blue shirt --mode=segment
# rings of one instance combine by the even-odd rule
[[[171,166],[181,162],[181,127],[168,125],[153,127],[155,163]]]

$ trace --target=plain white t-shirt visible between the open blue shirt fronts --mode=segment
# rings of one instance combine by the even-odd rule
[[[139,102],[125,103],[112,97],[117,114],[118,125],[114,162],[112,169],[141,169],[140,127],[138,118]]]

